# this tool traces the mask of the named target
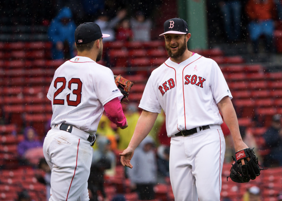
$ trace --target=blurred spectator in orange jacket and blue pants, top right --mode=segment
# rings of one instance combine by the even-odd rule
[[[259,38],[262,35],[266,39],[266,51],[273,51],[274,11],[273,0],[249,0],[246,5],[246,14],[250,18],[249,35],[254,53],[258,53]]]

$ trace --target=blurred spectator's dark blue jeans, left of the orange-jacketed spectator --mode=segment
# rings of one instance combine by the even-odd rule
[[[222,0],[220,8],[223,14],[226,39],[229,42],[241,39],[241,0]]]

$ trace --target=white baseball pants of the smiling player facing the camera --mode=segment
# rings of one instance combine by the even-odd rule
[[[171,137],[169,174],[175,201],[220,201],[225,140],[221,129]]]

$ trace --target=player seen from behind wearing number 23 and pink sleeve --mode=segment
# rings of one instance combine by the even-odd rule
[[[52,129],[43,144],[52,170],[49,201],[89,200],[91,145],[104,110],[118,127],[128,126],[113,72],[96,63],[102,57],[102,38],[108,36],[93,22],[79,25],[75,30],[77,56],[54,74],[47,94],[53,109]]]

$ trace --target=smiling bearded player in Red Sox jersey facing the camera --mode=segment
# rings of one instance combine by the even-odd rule
[[[163,109],[171,137],[169,174],[175,200],[219,201],[225,152],[220,112],[235,150],[248,148],[239,132],[232,95],[218,64],[188,51],[191,34],[184,20],[167,20],[162,35],[170,58],[148,79],[139,105],[143,111],[129,146],[120,154],[121,163],[134,168],[130,163],[134,150]]]

